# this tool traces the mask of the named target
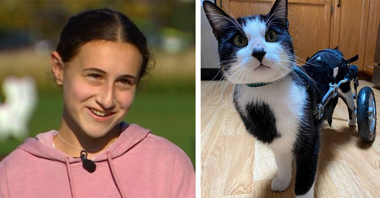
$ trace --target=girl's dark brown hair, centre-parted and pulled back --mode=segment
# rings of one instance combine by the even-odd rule
[[[63,62],[69,62],[82,45],[95,40],[134,45],[142,55],[138,79],[146,73],[150,54],[145,36],[127,16],[107,8],[90,10],[71,17],[62,30],[56,51]]]

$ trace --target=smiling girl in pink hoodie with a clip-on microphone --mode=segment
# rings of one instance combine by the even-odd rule
[[[145,36],[122,13],[71,17],[51,53],[63,89],[61,125],[0,163],[0,197],[195,197],[186,154],[121,122],[148,62]]]

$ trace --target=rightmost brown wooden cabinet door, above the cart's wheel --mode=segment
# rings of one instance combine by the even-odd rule
[[[378,0],[334,0],[332,46],[339,46],[346,58],[359,54],[359,70],[372,74],[380,21]]]

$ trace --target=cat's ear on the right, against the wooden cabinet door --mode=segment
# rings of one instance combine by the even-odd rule
[[[268,13],[268,23],[279,22],[289,29],[288,0],[276,0],[271,11]]]

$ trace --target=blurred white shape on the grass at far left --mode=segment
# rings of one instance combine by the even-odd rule
[[[10,135],[23,139],[28,134],[28,122],[37,103],[32,77],[9,76],[4,80],[5,102],[0,104],[0,140]]]

